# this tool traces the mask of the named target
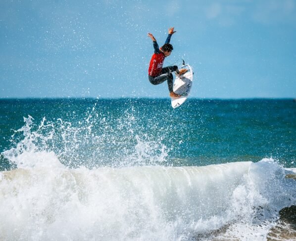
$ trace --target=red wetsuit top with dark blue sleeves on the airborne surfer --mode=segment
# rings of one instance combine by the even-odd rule
[[[169,34],[167,36],[167,39],[165,41],[165,44],[169,44],[171,40],[172,35]],[[153,47],[154,47],[154,54],[151,57],[149,69],[148,69],[148,75],[152,77],[157,77],[161,74],[163,61],[165,58],[165,55],[163,52],[159,50],[158,44],[156,41],[153,41]]]

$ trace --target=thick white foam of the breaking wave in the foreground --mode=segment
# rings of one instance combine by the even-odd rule
[[[194,240],[225,225],[224,235],[266,240],[296,203],[292,171],[271,159],[90,170],[53,152],[15,158],[33,164],[0,173],[0,240]]]

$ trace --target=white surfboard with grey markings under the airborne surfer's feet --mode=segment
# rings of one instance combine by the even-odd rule
[[[176,75],[173,91],[176,94],[181,95],[181,97],[171,98],[171,104],[173,108],[177,108],[178,106],[180,106],[185,102],[192,88],[192,82],[193,82],[192,67],[189,64],[185,64],[182,66],[182,68],[186,68],[188,69],[188,71],[181,76]]]

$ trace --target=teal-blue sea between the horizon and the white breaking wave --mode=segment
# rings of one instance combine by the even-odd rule
[[[293,99],[189,99],[176,109],[169,99],[1,99],[0,151],[29,138],[69,166],[273,158],[296,167],[295,119]],[[15,133],[25,125],[28,133]],[[1,170],[11,164],[2,156]]]

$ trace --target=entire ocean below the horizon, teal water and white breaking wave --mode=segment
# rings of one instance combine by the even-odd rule
[[[293,99],[0,99],[0,240],[295,240],[295,119]]]

